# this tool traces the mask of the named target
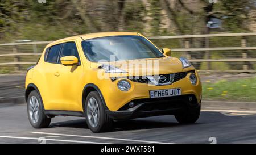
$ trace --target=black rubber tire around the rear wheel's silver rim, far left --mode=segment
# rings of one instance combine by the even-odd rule
[[[31,98],[36,98],[37,102],[38,102],[38,119],[36,122],[33,122],[33,118],[30,115],[30,109],[31,109],[31,104],[30,104],[30,100]],[[47,116],[44,114],[43,111],[43,102],[41,100],[41,98],[39,97],[39,94],[37,93],[37,91],[33,90],[30,92],[30,94],[28,95],[28,99],[27,99],[27,115],[28,115],[28,120],[30,121],[30,124],[32,125],[32,127],[34,128],[47,128],[49,126],[49,124],[51,123],[51,118],[47,118]]]

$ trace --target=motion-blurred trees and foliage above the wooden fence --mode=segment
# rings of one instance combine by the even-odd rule
[[[40,0],[42,1],[42,0]],[[0,0],[1,43],[36,41],[101,31],[146,36],[255,31],[255,0]],[[207,22],[220,19],[218,30]],[[214,32],[216,33],[216,32]],[[202,42],[202,41],[201,41]],[[195,41],[196,47],[202,43]]]

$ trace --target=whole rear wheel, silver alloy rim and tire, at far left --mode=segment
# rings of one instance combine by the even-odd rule
[[[42,100],[35,90],[28,95],[27,114],[28,120],[34,128],[46,128],[51,123],[51,118],[44,115]]]

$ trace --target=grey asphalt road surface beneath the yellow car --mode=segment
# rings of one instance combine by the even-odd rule
[[[92,133],[84,118],[57,116],[49,128],[34,129],[26,104],[0,104],[0,143],[211,143],[215,138],[217,143],[256,143],[255,128],[255,111],[208,107],[188,125],[174,116],[156,116],[114,122],[112,132]]]

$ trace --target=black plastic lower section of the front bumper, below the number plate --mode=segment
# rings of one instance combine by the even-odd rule
[[[192,97],[191,101],[189,101],[189,97]],[[135,104],[132,108],[129,108],[129,103],[127,103],[118,111],[106,110],[106,113],[112,119],[125,120],[148,116],[174,115],[176,112],[187,108],[197,108],[201,104],[201,100],[197,102],[193,94],[154,99],[135,99],[132,102]]]

